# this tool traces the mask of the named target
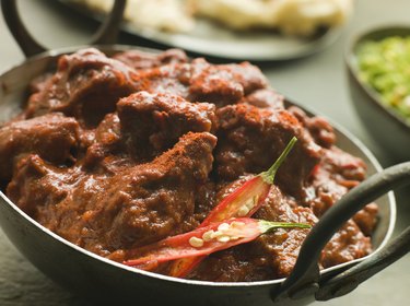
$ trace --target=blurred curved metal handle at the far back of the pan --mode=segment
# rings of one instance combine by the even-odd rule
[[[118,35],[119,24],[122,20],[127,0],[115,0],[112,12],[105,22],[98,27],[91,44],[115,44]],[[25,57],[31,57],[47,50],[35,40],[24,26],[16,7],[15,0],[1,0],[1,10],[5,23],[17,42]]]

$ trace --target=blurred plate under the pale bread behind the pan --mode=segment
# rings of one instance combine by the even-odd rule
[[[103,15],[90,11],[70,0],[60,3],[96,21]],[[333,43],[341,28],[321,31],[312,38],[297,38],[268,31],[234,32],[218,23],[198,19],[195,28],[189,33],[166,33],[141,27],[129,22],[121,24],[121,30],[165,46],[219,58],[251,61],[279,61],[302,58]]]

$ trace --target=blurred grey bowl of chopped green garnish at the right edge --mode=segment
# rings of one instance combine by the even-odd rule
[[[356,36],[345,61],[363,125],[395,161],[410,160],[410,24]]]

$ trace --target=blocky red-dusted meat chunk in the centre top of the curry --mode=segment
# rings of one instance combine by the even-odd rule
[[[118,163],[114,163],[113,154],[124,157],[121,164],[126,160],[149,162],[189,131],[215,129],[214,105],[189,103],[172,94],[138,92],[121,98],[117,110],[118,116],[108,115],[96,129],[85,165],[105,160],[105,168],[115,168]]]

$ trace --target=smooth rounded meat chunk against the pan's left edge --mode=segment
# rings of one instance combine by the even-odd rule
[[[79,123],[54,113],[13,121],[0,129],[0,180],[9,180],[22,155],[35,153],[51,163],[72,163],[79,144]]]

